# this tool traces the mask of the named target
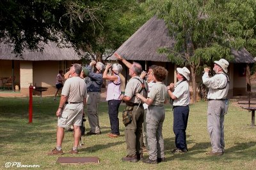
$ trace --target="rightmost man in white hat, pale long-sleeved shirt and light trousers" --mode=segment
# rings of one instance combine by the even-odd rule
[[[227,113],[225,99],[228,94],[229,80],[227,76],[228,61],[220,59],[214,61],[213,70],[215,75],[209,78],[208,67],[204,68],[202,77],[203,83],[209,88],[207,94],[208,110],[207,110],[207,129],[211,138],[212,150],[207,155],[223,155],[224,153],[224,115]]]

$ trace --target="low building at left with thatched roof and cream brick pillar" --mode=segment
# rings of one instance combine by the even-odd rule
[[[0,88],[4,89],[4,80],[13,78],[12,90],[17,93],[12,96],[28,96],[29,85],[47,87],[44,95],[52,95],[56,92],[56,74],[62,69],[67,71],[74,62],[81,63],[81,57],[74,48],[61,48],[57,43],[43,44],[44,50],[24,50],[22,56],[12,53],[10,44],[0,43]],[[34,92],[33,92],[34,93]],[[6,97],[8,93],[1,93],[0,97]]]

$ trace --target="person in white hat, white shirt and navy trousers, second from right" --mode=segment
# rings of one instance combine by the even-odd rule
[[[168,94],[173,100],[173,132],[175,134],[176,148],[172,153],[188,152],[186,143],[186,129],[188,125],[189,116],[189,74],[187,67],[177,68],[177,82],[176,87],[173,83],[167,87]]]

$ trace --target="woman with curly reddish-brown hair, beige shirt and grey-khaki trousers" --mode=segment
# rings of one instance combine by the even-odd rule
[[[147,141],[149,146],[149,158],[143,160],[148,164],[157,164],[165,160],[164,156],[164,139],[163,139],[163,122],[165,118],[164,103],[167,101],[167,87],[163,81],[166,78],[168,71],[161,66],[153,68],[153,79],[156,82],[148,92],[147,99],[141,94],[136,94],[136,97],[141,99],[143,103],[148,104],[146,115],[147,124]]]

